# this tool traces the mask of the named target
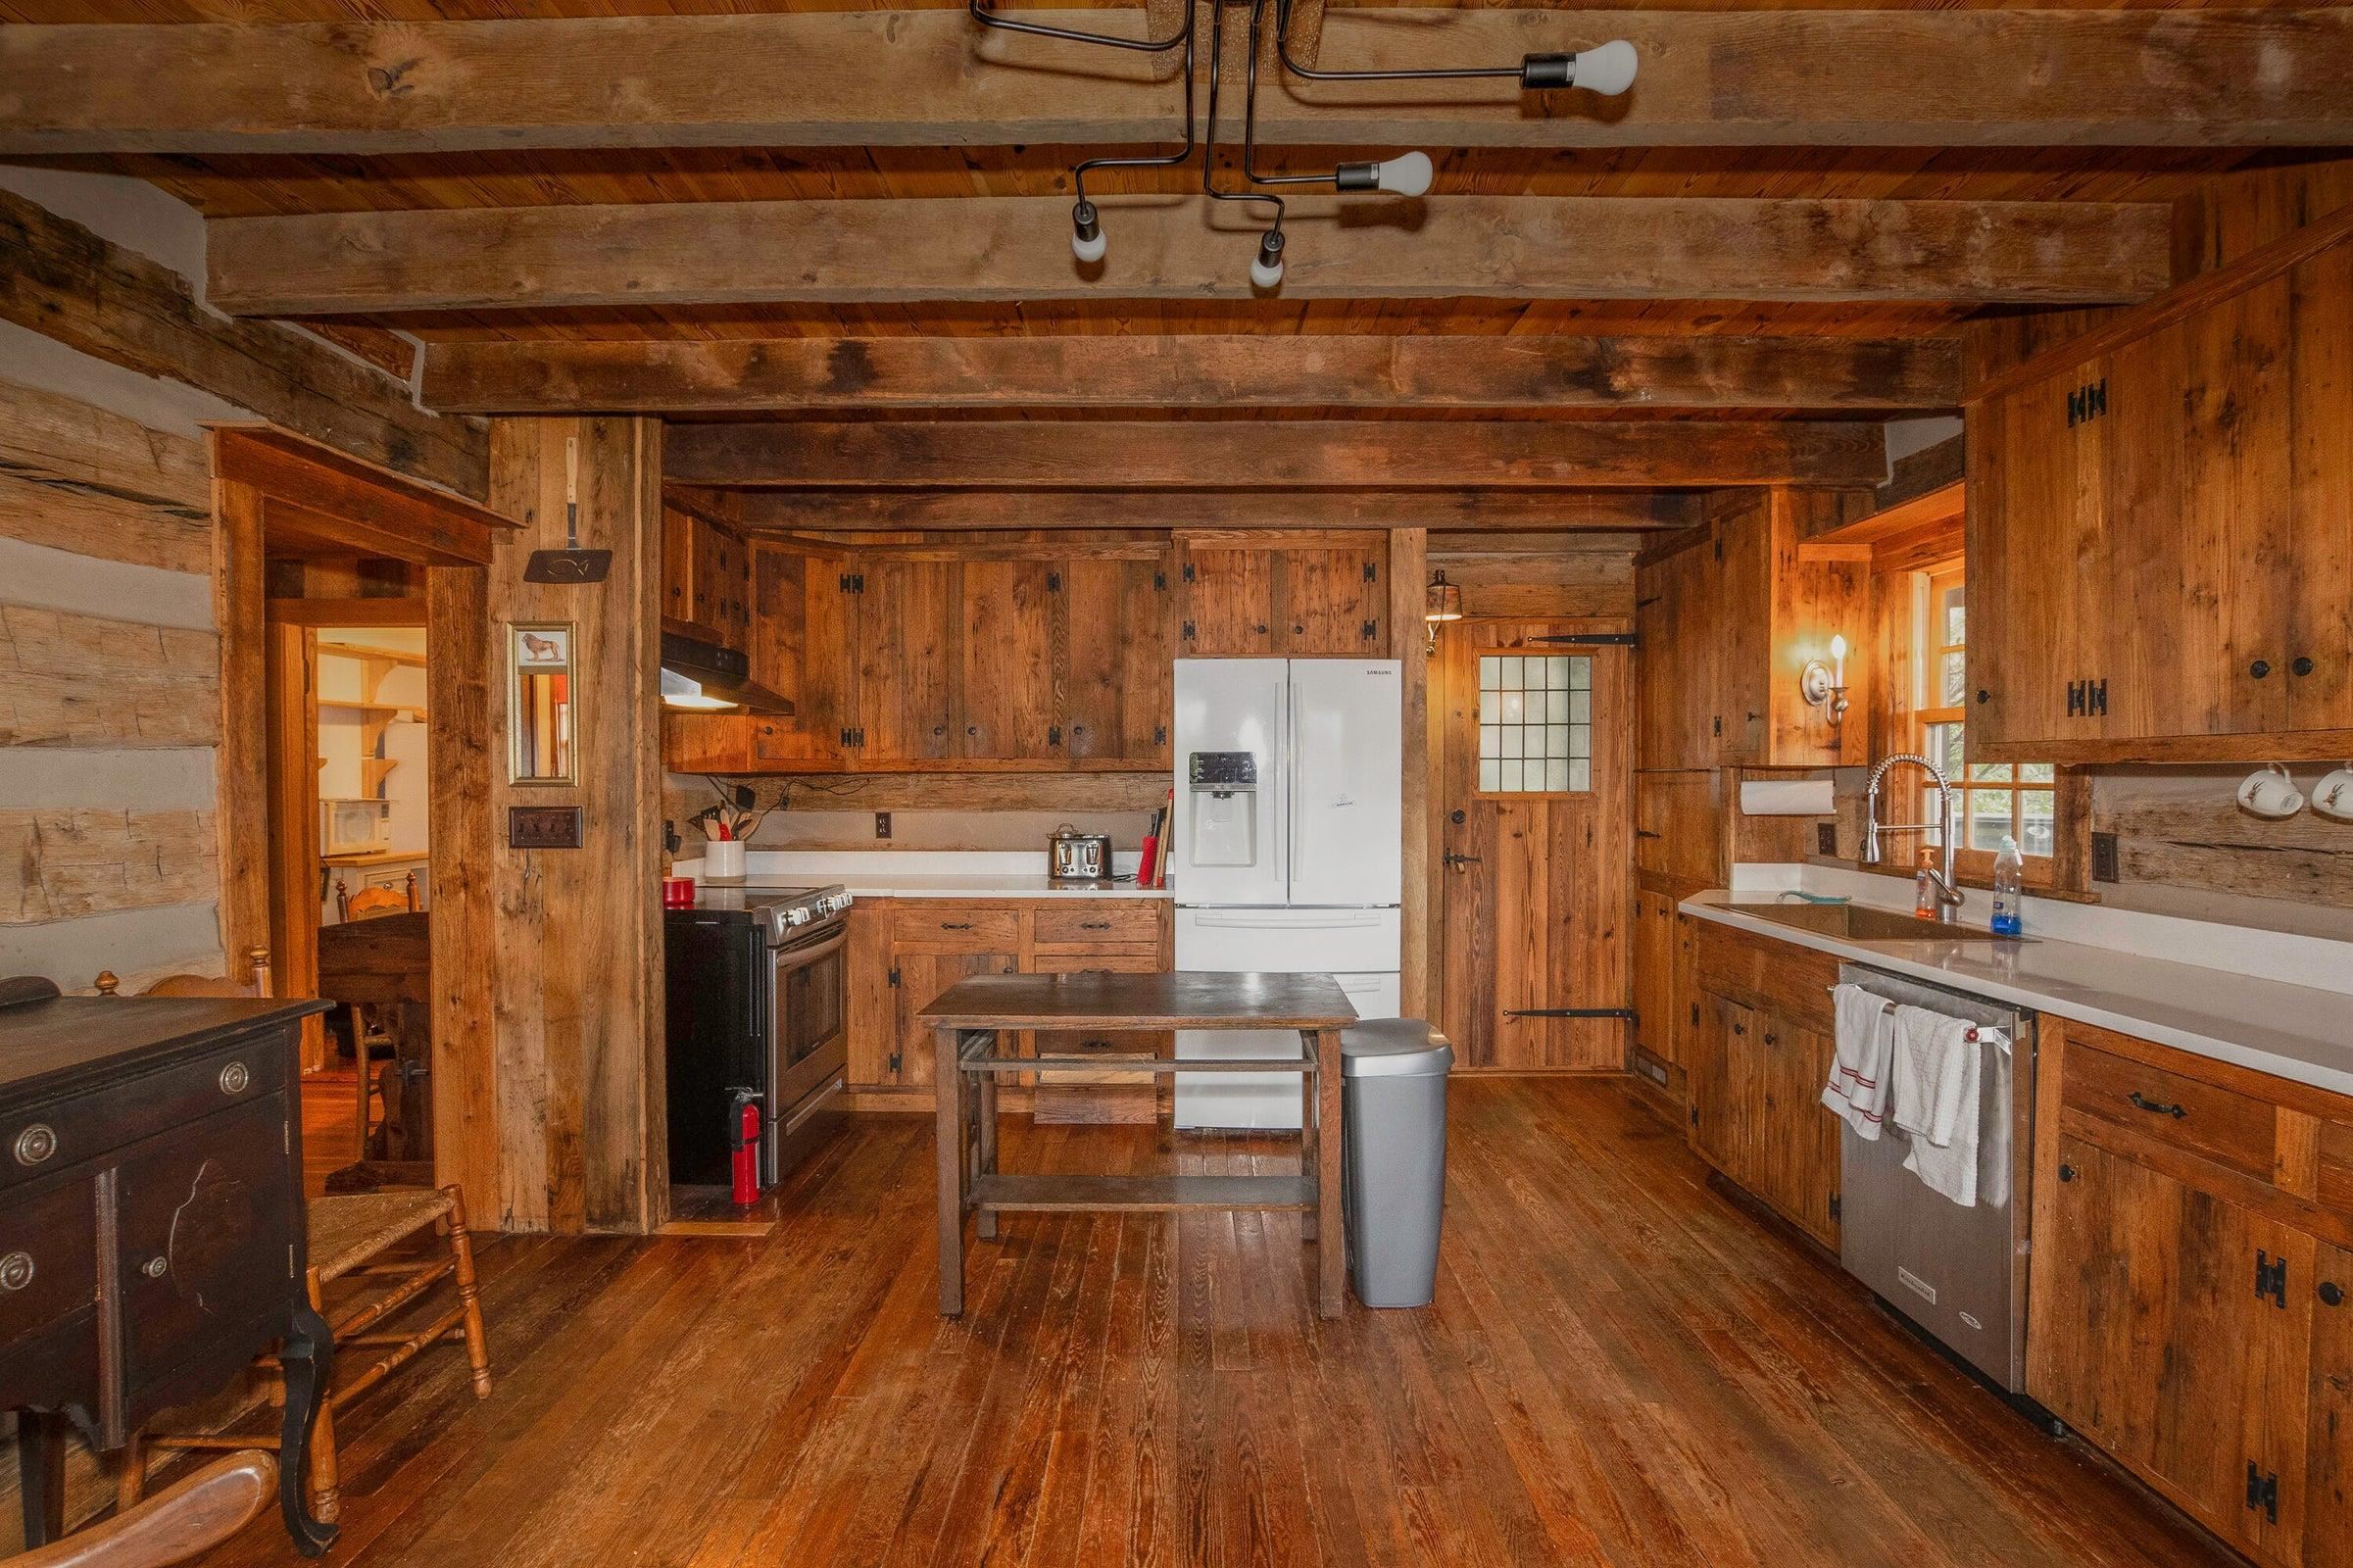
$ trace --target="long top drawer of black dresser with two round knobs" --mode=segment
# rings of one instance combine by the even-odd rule
[[[191,1062],[0,1116],[0,1189],[285,1088],[282,1029]]]

